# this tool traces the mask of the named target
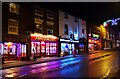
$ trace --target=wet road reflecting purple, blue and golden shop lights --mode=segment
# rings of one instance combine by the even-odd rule
[[[55,77],[102,78],[120,64],[120,50],[106,50],[79,57],[4,69],[3,79],[47,79]]]

